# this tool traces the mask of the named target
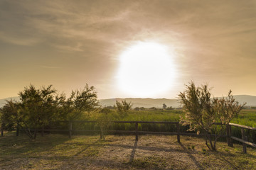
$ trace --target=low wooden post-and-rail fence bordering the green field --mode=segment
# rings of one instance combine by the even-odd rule
[[[69,137],[72,137],[73,132],[100,132],[100,130],[75,130],[73,129],[73,123],[97,123],[96,121],[82,121],[82,120],[73,120],[73,121],[63,121],[68,123],[67,130],[60,130],[60,129],[47,129],[47,130],[38,130],[38,131],[61,131],[61,132],[68,132]],[[114,132],[114,133],[133,133],[135,135],[135,140],[139,140],[139,134],[154,134],[154,135],[177,135],[177,141],[181,142],[180,136],[181,135],[195,135],[196,133],[188,133],[188,132],[180,132],[180,123],[179,122],[148,122],[148,121],[111,121],[111,123],[131,123],[134,124],[135,130],[107,130],[107,132]],[[139,131],[139,124],[143,123],[151,123],[151,124],[174,124],[176,125],[176,132],[150,132],[150,131]],[[215,125],[221,125],[221,123],[215,123]],[[232,126],[241,128],[242,139],[238,137],[232,136]],[[245,125],[238,125],[235,123],[229,123],[226,125],[226,135],[222,135],[221,137],[226,137],[228,146],[233,147],[233,140],[238,142],[242,142],[242,149],[244,153],[247,153],[246,146],[250,145],[251,147],[256,147],[256,144],[247,141],[247,136],[245,136],[245,129],[246,130],[256,130],[256,128],[252,128]],[[18,136],[19,129],[16,130],[16,135]],[[1,130],[1,136],[4,135],[4,130]],[[200,134],[205,135],[205,134]],[[214,135],[214,134],[213,134]]]

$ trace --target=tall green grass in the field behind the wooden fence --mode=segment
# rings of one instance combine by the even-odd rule
[[[112,111],[110,114],[110,120],[119,121],[170,121],[178,122],[180,116],[183,116],[184,112],[179,109],[174,109],[171,111],[164,110],[144,110],[144,111],[129,111],[126,116],[118,116],[117,111]],[[96,120],[96,115],[91,115],[88,120]],[[242,110],[241,113],[235,118],[232,123],[237,123],[240,125],[247,125],[256,128],[256,109],[255,110]],[[68,130],[68,123],[55,123],[51,128],[55,129],[65,129]],[[176,132],[175,124],[154,124],[154,123],[139,123],[139,131],[151,131],[151,132]],[[188,126],[181,126],[181,132],[187,132]],[[73,130],[100,130],[97,123],[73,123]],[[110,123],[109,130],[135,130],[134,123]],[[218,132],[220,126],[216,125],[214,132]],[[84,133],[84,132],[75,132]],[[92,132],[87,132],[92,134]],[[245,130],[245,133],[250,142],[256,143],[256,132],[252,130]],[[241,138],[241,129],[232,127],[232,135]]]

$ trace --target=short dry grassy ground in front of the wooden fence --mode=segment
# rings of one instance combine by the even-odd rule
[[[0,169],[256,169],[256,149],[217,143],[210,152],[203,139],[181,136],[108,135],[38,136],[35,141],[14,133],[0,137]]]

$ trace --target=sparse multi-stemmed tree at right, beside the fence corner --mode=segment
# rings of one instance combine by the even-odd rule
[[[196,130],[199,135],[202,130],[206,135],[206,146],[210,150],[216,150],[216,142],[225,132],[225,127],[241,111],[245,103],[240,105],[233,98],[231,91],[228,98],[211,98],[207,85],[196,87],[193,81],[186,86],[186,90],[178,97],[186,110],[181,118],[183,125],[190,125],[188,130]],[[215,129],[215,123],[221,123],[220,130],[215,130],[214,139],[211,135]]]

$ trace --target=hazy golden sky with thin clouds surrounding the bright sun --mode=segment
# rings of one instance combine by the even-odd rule
[[[120,56],[140,42],[169,52],[170,73],[159,72],[169,89],[146,95],[120,87]],[[142,72],[140,65],[131,71]],[[214,96],[230,89],[256,96],[255,73],[255,0],[0,0],[0,98],[29,84],[66,94],[88,84],[98,98],[176,98],[190,81],[213,87]],[[165,82],[144,75],[149,84]]]

